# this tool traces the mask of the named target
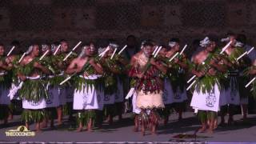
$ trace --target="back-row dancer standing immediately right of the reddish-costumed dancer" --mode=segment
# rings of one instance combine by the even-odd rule
[[[178,119],[182,119],[182,109],[184,109],[184,102],[187,99],[186,96],[186,75],[185,72],[188,69],[188,61],[186,55],[183,53],[186,46],[179,52],[179,39],[171,38],[169,42],[170,50],[166,53],[168,66],[168,78],[165,82],[165,90],[169,91],[168,97],[170,97],[170,103],[174,104],[174,108],[178,111]],[[178,54],[177,56],[175,56]],[[173,60],[172,60],[173,59]],[[171,61],[170,61],[171,60]],[[165,119],[168,122],[168,119]]]

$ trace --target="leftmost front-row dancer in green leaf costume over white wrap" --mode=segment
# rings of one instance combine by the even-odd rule
[[[36,122],[36,129],[40,131],[39,123],[45,117],[46,108],[46,87],[42,81],[42,74],[50,74],[50,70],[39,64],[39,46],[33,44],[26,51],[26,56],[22,58],[18,68],[18,77],[24,82],[20,90],[22,98],[22,120],[26,122],[29,129],[31,121]]]

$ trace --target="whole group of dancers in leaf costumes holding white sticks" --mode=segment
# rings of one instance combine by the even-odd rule
[[[62,125],[63,114],[73,118],[75,113],[78,131],[84,126],[91,131],[104,120],[112,124],[114,116],[121,120],[131,99],[134,131],[156,134],[159,119],[166,125],[173,108],[182,119],[190,99],[202,123],[199,131],[213,132],[218,113],[220,125],[226,113],[227,123],[234,123],[234,106],[241,106],[246,118],[248,97],[255,93],[254,47],[241,34],[227,34],[218,43],[218,38],[206,37],[191,51],[178,38],[166,45],[147,39],[131,57],[126,56],[129,44],[114,41],[101,48],[78,42],[72,50],[66,40],[33,43],[23,54],[14,52],[18,43],[8,54],[0,44],[0,120],[7,123],[10,105],[20,101],[28,129],[31,122],[38,131],[49,122],[54,127],[54,119]],[[74,52],[77,48],[82,48],[80,54]]]

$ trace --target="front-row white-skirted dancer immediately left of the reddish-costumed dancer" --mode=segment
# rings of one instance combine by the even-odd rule
[[[102,66],[94,58],[95,48],[93,45],[82,46],[82,53],[68,66],[66,73],[78,73],[75,77],[74,110],[78,110],[78,131],[82,131],[83,125],[87,130],[92,130],[96,118],[95,110],[102,109],[102,98],[98,88],[101,85]]]

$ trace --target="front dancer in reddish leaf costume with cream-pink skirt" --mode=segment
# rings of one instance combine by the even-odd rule
[[[151,58],[154,42],[148,40],[142,45],[142,53],[138,52],[131,59],[132,66],[129,76],[135,78],[135,93],[137,93],[136,106],[141,109],[142,134],[150,126],[151,133],[156,133],[158,126],[158,114],[156,109],[164,108],[162,101],[163,82],[159,74],[166,73],[166,67],[162,62]],[[146,113],[150,110],[150,115]]]

